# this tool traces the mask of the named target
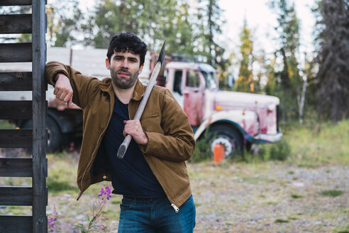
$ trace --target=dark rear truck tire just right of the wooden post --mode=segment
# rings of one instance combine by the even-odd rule
[[[33,129],[33,120],[26,121],[22,129]],[[48,147],[47,153],[53,153],[62,148],[62,133],[54,120],[48,117],[46,129],[48,129]]]

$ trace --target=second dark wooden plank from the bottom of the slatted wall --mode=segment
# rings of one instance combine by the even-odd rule
[[[33,188],[31,187],[0,187],[0,205],[26,205],[33,204]]]

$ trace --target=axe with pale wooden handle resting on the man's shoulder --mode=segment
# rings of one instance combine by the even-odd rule
[[[150,76],[148,85],[145,88],[143,99],[140,101],[140,104],[138,106],[137,112],[135,112],[135,117],[133,118],[134,120],[139,120],[140,116],[142,116],[143,110],[145,108],[145,105],[148,102],[148,99],[149,99],[149,96],[150,96],[150,92],[152,92],[152,90],[153,90],[153,86],[155,84],[157,75],[159,75],[159,72],[160,72],[161,67],[162,67],[162,63],[164,62],[164,58],[165,58],[165,43],[166,43],[166,39],[165,39],[164,43],[162,44],[162,48],[160,50],[159,58],[157,59],[157,62],[156,62],[156,65],[154,67],[154,70],[152,72],[152,75]],[[116,154],[116,156],[118,156],[118,158],[123,158],[123,156],[125,156],[126,150],[128,148],[128,145],[131,142],[131,139],[132,139],[131,135],[127,135],[126,138],[123,139],[123,143],[121,143],[120,147],[118,148],[118,153]]]

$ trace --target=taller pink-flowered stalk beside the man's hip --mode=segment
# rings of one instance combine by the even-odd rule
[[[100,232],[101,229],[105,228],[104,225],[99,224],[99,222],[104,219],[101,212],[105,207],[106,202],[111,197],[111,188],[109,188],[109,186],[101,188],[98,196],[98,200],[92,205],[92,217],[90,218],[89,215],[87,215],[87,226],[85,227],[84,224],[80,223],[77,224],[77,227],[74,227],[74,229],[80,229],[82,233],[89,233]]]

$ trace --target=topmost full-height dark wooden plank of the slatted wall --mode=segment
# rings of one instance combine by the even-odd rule
[[[31,33],[31,14],[0,15],[0,34]]]

